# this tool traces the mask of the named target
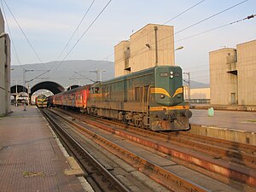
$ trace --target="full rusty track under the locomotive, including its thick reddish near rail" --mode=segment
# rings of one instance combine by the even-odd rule
[[[199,137],[187,132],[157,133],[119,125],[119,123],[113,125],[112,121],[106,119],[88,118],[70,112],[64,113],[169,154],[172,158],[176,158],[178,163],[193,168],[197,172],[218,178],[224,183],[229,183],[231,178],[255,187],[255,170],[253,170],[255,167],[255,146],[211,137]],[[183,160],[184,163],[180,160]],[[207,173],[206,171],[210,172]],[[212,172],[217,173],[217,175],[212,174]],[[223,177],[219,177],[219,174]]]

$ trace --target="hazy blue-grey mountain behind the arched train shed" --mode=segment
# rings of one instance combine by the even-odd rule
[[[92,61],[92,60],[75,60],[75,61],[51,61],[44,64],[26,64],[22,66],[11,66],[11,86],[23,84],[23,75],[29,86],[32,87],[42,81],[53,81],[61,84],[65,88],[74,84],[90,84],[100,79],[99,70],[102,73],[102,80],[113,79],[114,64],[112,61]],[[26,69],[26,73],[24,69]],[[49,72],[47,72],[50,70]],[[43,74],[44,73],[44,74]],[[185,84],[185,83],[184,83]],[[209,84],[203,84],[191,81],[191,88],[205,88]]]

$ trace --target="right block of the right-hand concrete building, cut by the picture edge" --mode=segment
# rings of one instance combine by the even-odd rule
[[[238,104],[256,105],[256,40],[238,44]]]

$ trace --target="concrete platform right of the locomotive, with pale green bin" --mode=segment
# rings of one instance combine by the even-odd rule
[[[191,109],[191,133],[256,145],[256,112]]]

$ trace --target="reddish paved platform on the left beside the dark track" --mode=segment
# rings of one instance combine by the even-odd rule
[[[84,191],[36,107],[0,118],[0,192]]]

